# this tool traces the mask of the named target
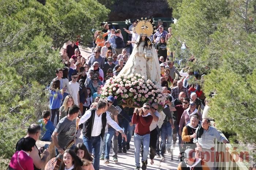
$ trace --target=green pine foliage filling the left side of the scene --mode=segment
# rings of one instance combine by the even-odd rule
[[[29,124],[49,109],[45,87],[63,67],[55,49],[78,35],[86,44],[108,12],[93,0],[0,0],[1,158],[10,159]]]

